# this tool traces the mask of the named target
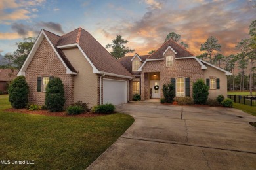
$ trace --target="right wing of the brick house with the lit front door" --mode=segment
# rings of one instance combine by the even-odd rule
[[[196,58],[173,40],[165,42],[150,56],[127,56],[119,59],[136,78],[130,82],[130,97],[140,94],[141,100],[163,98],[163,84],[175,84],[176,97],[192,97],[193,82],[199,78],[209,86],[209,98],[227,96],[226,75],[232,75],[215,65]]]

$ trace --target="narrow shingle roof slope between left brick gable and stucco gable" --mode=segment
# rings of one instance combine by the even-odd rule
[[[58,46],[58,42],[60,41],[60,39],[62,39],[62,37],[51,33],[49,31],[43,30],[45,32],[45,34],[47,35],[47,37],[49,38],[49,40],[51,41],[51,43],[53,44],[54,48],[56,49],[56,51],[58,52],[58,54],[60,55],[60,57],[62,58],[62,60],[64,61],[64,63],[66,64],[66,66],[72,71],[77,73],[77,71],[75,70],[75,68],[72,66],[72,64],[70,63],[70,61],[68,60],[68,58],[65,56],[64,52],[62,52],[62,50],[60,50],[59,48],[57,48]]]

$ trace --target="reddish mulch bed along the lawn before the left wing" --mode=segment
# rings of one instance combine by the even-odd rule
[[[37,111],[30,111],[27,109],[5,109],[6,112],[17,112],[22,114],[39,114],[45,116],[57,116],[57,117],[96,117],[96,116],[104,116],[106,114],[95,114],[92,112],[86,112],[77,115],[67,115],[66,112],[49,112],[48,110],[37,110]]]

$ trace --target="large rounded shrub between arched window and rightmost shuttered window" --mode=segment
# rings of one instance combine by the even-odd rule
[[[209,87],[203,79],[196,80],[193,84],[193,99],[196,104],[205,104],[209,95]]]

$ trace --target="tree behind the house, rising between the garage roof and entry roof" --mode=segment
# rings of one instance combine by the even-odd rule
[[[134,49],[130,49],[128,47],[125,47],[124,44],[129,42],[128,40],[122,39],[121,35],[116,35],[116,39],[112,40],[111,44],[106,44],[106,48],[112,48],[112,52],[110,54],[116,58],[122,58],[125,56],[125,54],[134,52]]]

